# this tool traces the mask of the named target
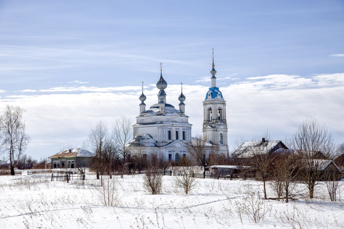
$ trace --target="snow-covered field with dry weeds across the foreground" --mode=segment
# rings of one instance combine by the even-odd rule
[[[100,180],[94,175],[86,176],[85,185],[51,182],[50,176],[0,176],[0,228],[344,227],[344,191],[341,201],[330,202],[323,184],[318,185],[314,200],[286,204],[260,199],[257,193],[262,187],[256,181],[198,179],[196,189],[185,195],[175,190],[172,177],[164,176],[163,193],[149,195],[142,187],[142,175],[114,176],[116,206],[109,207],[101,201]],[[269,188],[268,192],[273,197]],[[243,205],[249,203],[262,203],[257,222],[245,214],[255,209]]]

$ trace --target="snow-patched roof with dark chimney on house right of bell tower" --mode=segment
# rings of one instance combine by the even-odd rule
[[[250,158],[255,154],[266,154],[273,149],[276,150],[278,144],[283,144],[282,141],[245,141],[239,148],[237,148],[232,156],[238,158]],[[283,144],[283,146],[285,146]],[[287,147],[286,147],[287,148]]]

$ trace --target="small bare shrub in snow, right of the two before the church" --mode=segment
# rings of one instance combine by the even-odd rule
[[[173,176],[173,184],[182,189],[185,194],[188,194],[193,190],[198,182],[197,178],[194,177],[193,171],[187,167],[183,167],[180,176]]]

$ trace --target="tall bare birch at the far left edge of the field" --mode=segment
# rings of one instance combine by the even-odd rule
[[[30,142],[30,136],[25,133],[25,122],[22,116],[25,110],[19,106],[6,105],[0,115],[0,144],[1,151],[8,152],[6,162],[9,161],[11,175],[14,175],[15,158],[20,155]]]

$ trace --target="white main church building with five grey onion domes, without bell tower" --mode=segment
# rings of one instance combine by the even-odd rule
[[[175,160],[179,157],[187,157],[187,144],[191,144],[191,124],[189,116],[185,115],[185,96],[183,89],[178,97],[179,110],[166,102],[167,82],[162,77],[160,68],[160,79],[156,84],[159,89],[158,103],[146,110],[146,96],[139,97],[140,115],[136,117],[133,125],[135,136],[130,146],[131,151],[140,151],[144,157],[156,155],[164,160]],[[135,152],[134,152],[135,153]]]

